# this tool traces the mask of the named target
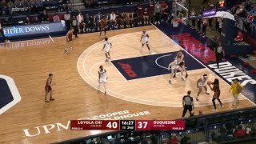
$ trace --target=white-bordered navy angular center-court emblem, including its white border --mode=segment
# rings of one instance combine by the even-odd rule
[[[21,101],[14,79],[0,74],[0,114]]]

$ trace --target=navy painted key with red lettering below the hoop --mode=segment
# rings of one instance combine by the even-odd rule
[[[147,78],[162,74],[170,74],[170,71],[166,68],[169,66],[170,62],[174,61],[177,53],[178,51],[136,58],[119,59],[111,62],[126,78],[126,80]],[[156,63],[156,60],[159,66]],[[205,68],[189,54],[184,54],[184,60],[186,62],[186,70],[198,70]]]

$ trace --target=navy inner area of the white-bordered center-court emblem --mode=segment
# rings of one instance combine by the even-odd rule
[[[0,78],[0,109],[14,100],[5,79]]]

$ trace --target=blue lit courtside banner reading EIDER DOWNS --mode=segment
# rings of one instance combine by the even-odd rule
[[[66,31],[65,22],[40,23],[34,25],[4,26],[3,32],[7,38],[29,35],[50,34]],[[0,35],[2,37],[2,35]]]

